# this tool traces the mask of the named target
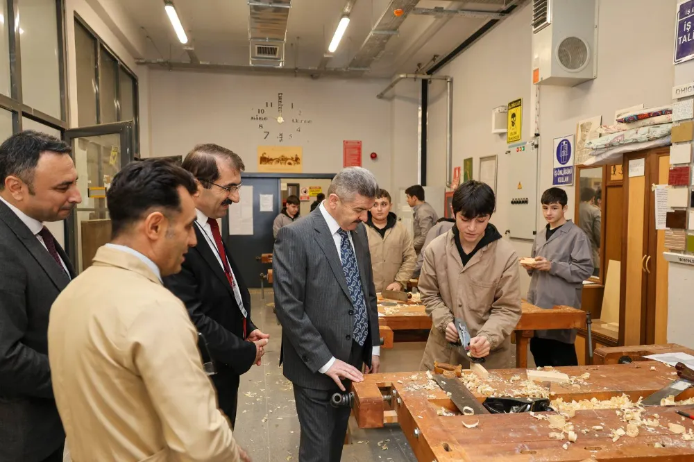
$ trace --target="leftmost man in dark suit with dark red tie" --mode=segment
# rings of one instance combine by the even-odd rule
[[[43,223],[82,202],[70,153],[31,130],[0,146],[0,461],[62,461],[48,320],[75,273]]]

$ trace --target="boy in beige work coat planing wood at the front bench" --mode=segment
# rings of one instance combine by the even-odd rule
[[[421,368],[434,361],[468,365],[463,347],[456,347],[453,323],[461,318],[468,326],[472,357],[485,358],[485,368],[510,367],[510,335],[521,319],[518,256],[489,223],[494,193],[474,180],[453,194],[453,228],[424,250],[418,288],[432,329]]]

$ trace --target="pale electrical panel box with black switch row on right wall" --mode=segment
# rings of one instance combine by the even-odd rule
[[[539,141],[538,141],[539,142]],[[509,237],[511,239],[534,240],[537,230],[537,159],[536,142],[527,142],[510,147],[509,185],[506,200],[509,211]]]

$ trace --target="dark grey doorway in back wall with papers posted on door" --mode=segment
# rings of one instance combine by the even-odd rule
[[[226,245],[233,255],[241,277],[249,288],[260,287],[260,275],[265,273],[270,264],[260,262],[260,255],[272,253],[275,238],[272,224],[282,210],[282,204],[289,196],[289,185],[300,185],[296,191],[301,193],[304,184],[321,185],[323,193],[335,177],[335,173],[243,173],[241,200],[229,208],[222,223],[222,233]],[[314,185],[315,183],[315,185]],[[327,185],[323,187],[322,185]],[[299,194],[296,194],[299,196]],[[300,216],[306,216],[305,208],[315,200],[301,202]]]

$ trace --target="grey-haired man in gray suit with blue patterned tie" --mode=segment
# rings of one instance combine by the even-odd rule
[[[330,397],[378,372],[376,293],[366,228],[378,184],[360,167],[335,176],[326,198],[280,229],[273,254],[284,374],[294,384],[300,462],[337,462],[350,409]]]

